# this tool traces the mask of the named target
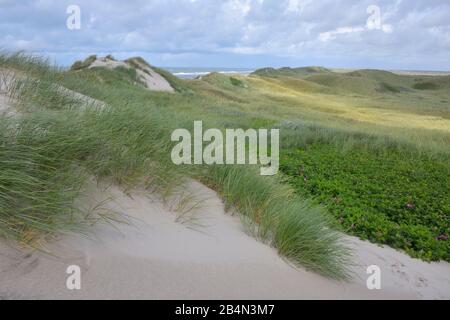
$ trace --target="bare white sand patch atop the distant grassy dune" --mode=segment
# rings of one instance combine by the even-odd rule
[[[139,68],[136,68],[136,73],[139,77],[139,80],[147,87],[147,89],[152,91],[175,92],[169,82],[164,79],[164,77],[159,73],[154,71],[152,68],[139,63],[139,61],[137,60],[134,60],[134,62],[139,66]],[[89,66],[89,68],[94,67],[104,67],[109,69],[114,69],[117,67],[133,68],[133,66],[126,61],[116,61],[107,57],[97,58]]]

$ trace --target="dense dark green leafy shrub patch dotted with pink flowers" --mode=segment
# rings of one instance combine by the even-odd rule
[[[348,233],[450,261],[448,157],[323,143],[283,155],[281,169],[297,192],[325,205]]]

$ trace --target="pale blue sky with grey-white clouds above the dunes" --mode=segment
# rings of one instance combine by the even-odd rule
[[[449,0],[0,0],[0,49],[171,67],[450,71]]]

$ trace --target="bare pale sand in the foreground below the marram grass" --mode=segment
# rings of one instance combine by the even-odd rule
[[[357,250],[351,283],[295,269],[267,245],[248,236],[239,219],[225,214],[210,189],[195,224],[175,222],[159,200],[117,187],[89,187],[89,207],[125,213],[132,225],[93,227],[95,237],[66,236],[48,245],[51,254],[0,244],[0,297],[70,299],[395,299],[450,298],[450,267],[427,264],[391,249],[351,238]],[[88,205],[90,204],[90,205]],[[200,225],[201,226],[200,226]],[[66,289],[66,268],[82,269],[82,288]],[[382,289],[365,285],[369,264],[382,269]]]

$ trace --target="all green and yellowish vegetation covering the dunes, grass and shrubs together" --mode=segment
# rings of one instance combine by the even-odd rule
[[[152,67],[169,93],[139,85],[132,69],[88,63],[67,71],[0,55],[0,69],[14,71],[4,82],[17,110],[0,116],[1,237],[35,246],[99,218],[120,221],[78,209],[92,177],[163,196],[193,178],[257,238],[329,277],[348,276],[342,231],[450,261],[450,77],[311,67],[180,80]],[[279,128],[283,173],[175,166],[171,132],[195,120]]]

